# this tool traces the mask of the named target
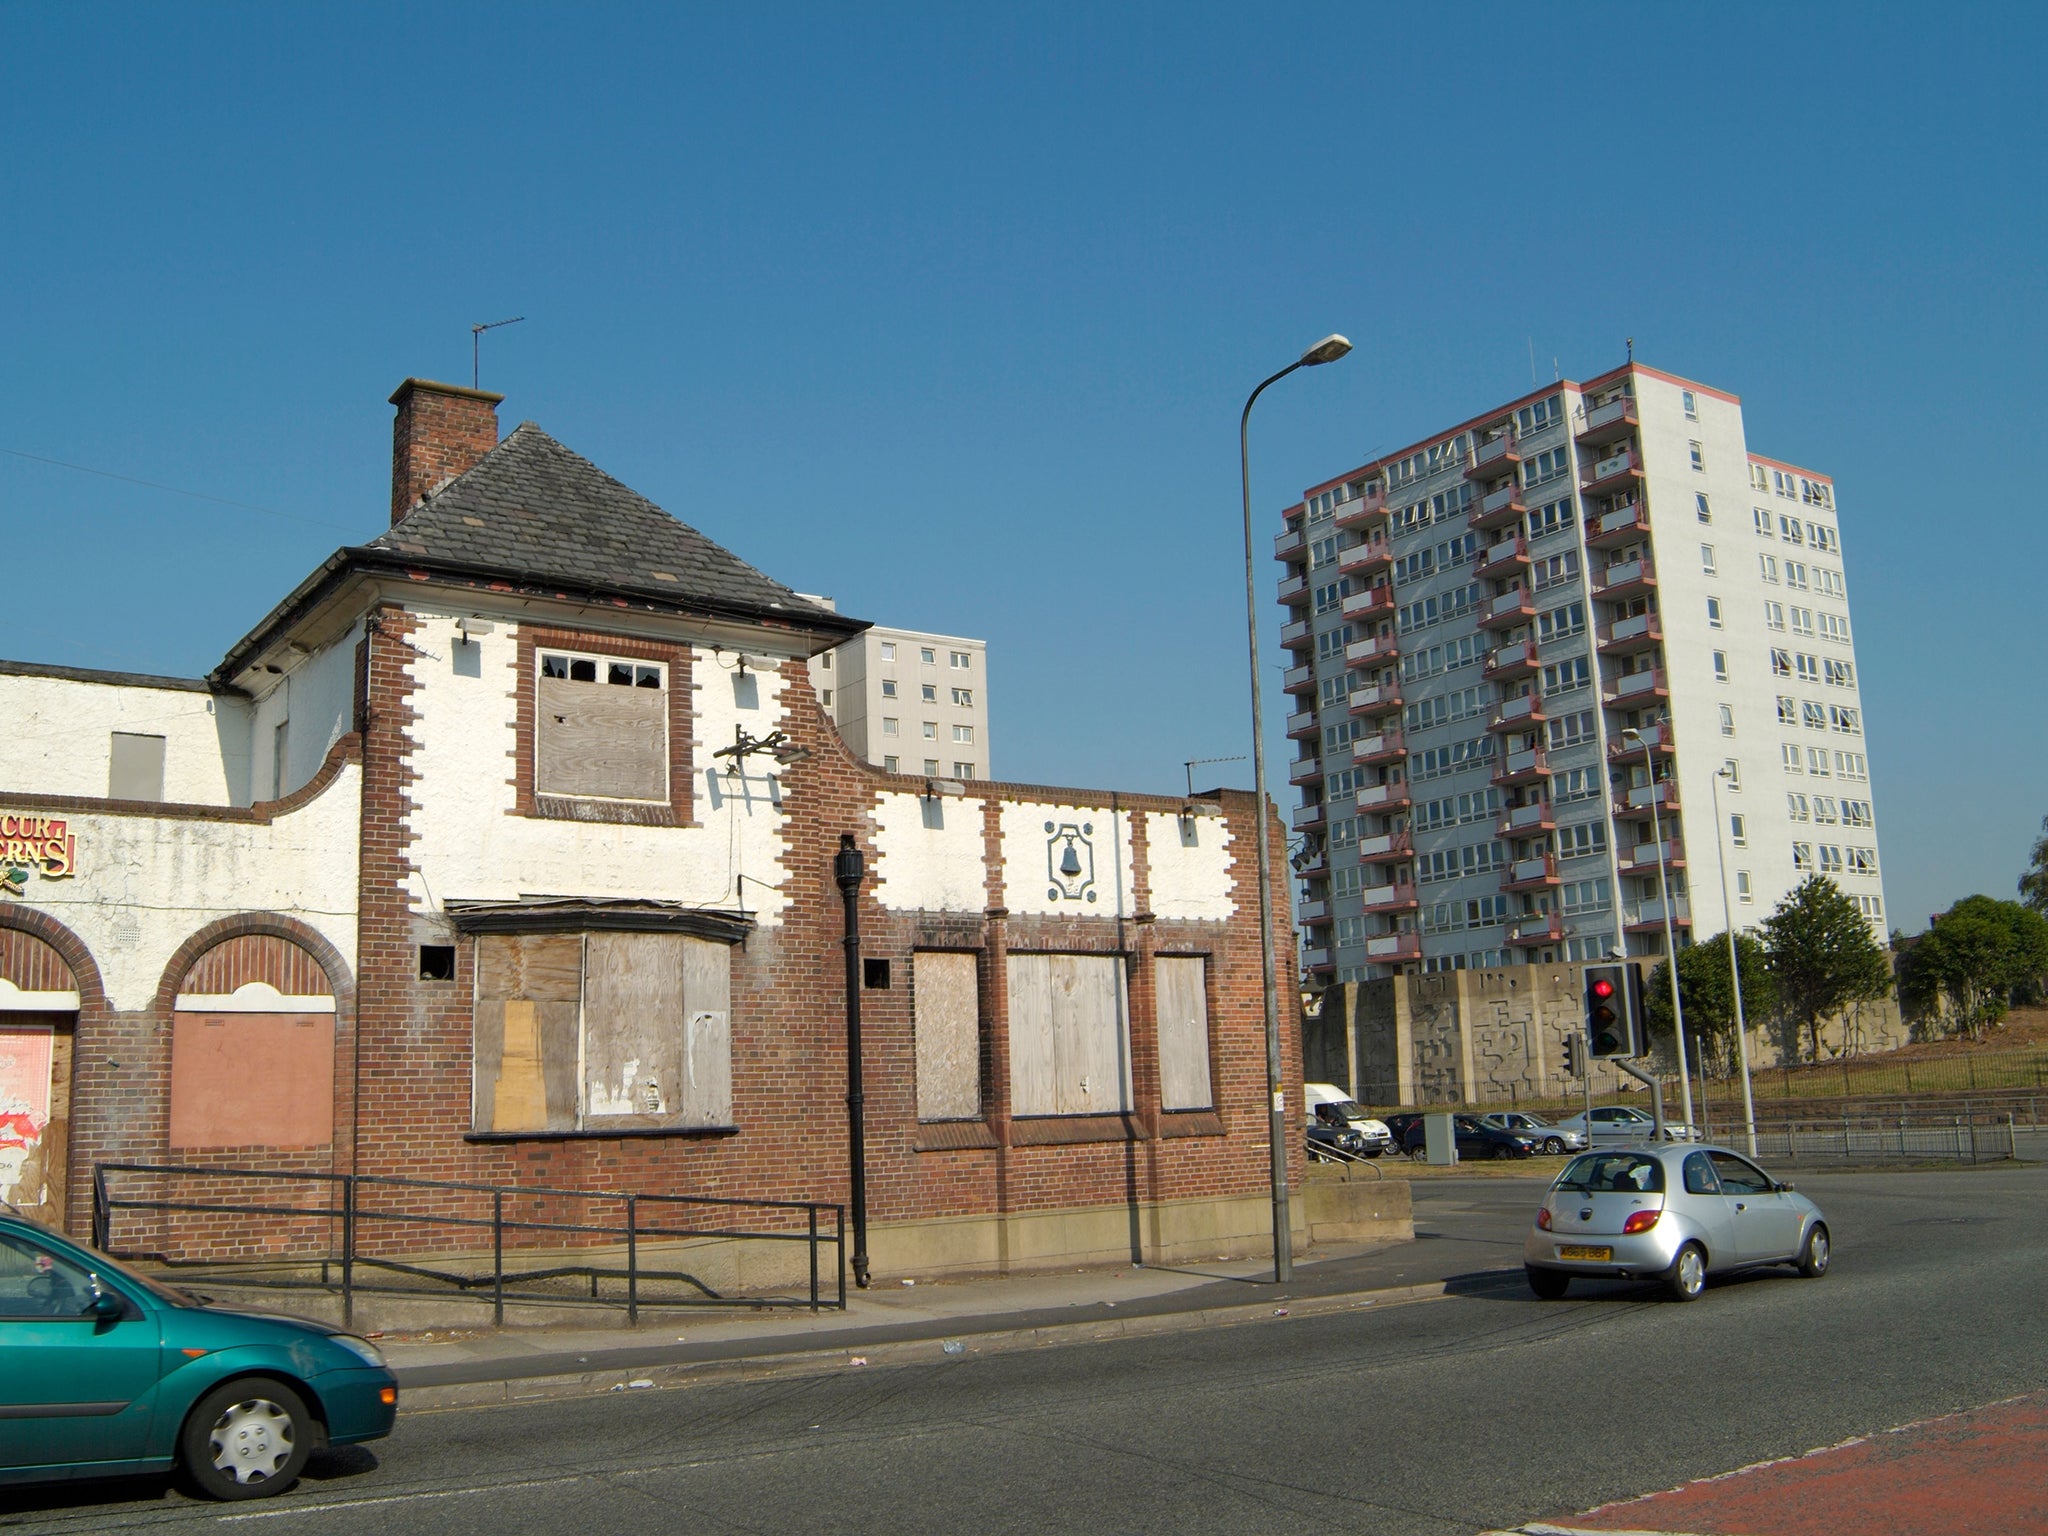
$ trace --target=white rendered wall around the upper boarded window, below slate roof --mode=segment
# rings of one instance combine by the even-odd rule
[[[512,815],[518,629],[502,625],[455,651],[455,614],[412,610],[418,631],[406,666],[414,684],[406,762],[414,809],[406,817],[412,903],[438,913],[451,899],[512,901],[522,895],[639,897],[692,907],[745,905],[762,926],[780,924],[786,815],[772,760],[754,756],[743,776],[713,750],[733,727],[764,737],[782,727],[782,678],[750,672],[735,688],[709,647],[692,651],[692,827],[633,827]],[[602,647],[598,647],[602,649]],[[471,659],[473,655],[473,659]],[[473,674],[471,674],[473,670]],[[741,885],[739,877],[748,881]]]

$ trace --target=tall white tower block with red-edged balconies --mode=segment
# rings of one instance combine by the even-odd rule
[[[1630,362],[1313,487],[1274,545],[1311,977],[1661,954],[1827,874],[1884,930],[1827,475]],[[1716,813],[1718,786],[1718,813]]]

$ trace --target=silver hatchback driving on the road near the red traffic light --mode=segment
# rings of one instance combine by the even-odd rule
[[[1522,1243],[1530,1290],[1554,1300],[1573,1276],[1663,1280],[1679,1300],[1710,1274],[1829,1262],[1821,1208],[1726,1147],[1642,1145],[1573,1157]]]

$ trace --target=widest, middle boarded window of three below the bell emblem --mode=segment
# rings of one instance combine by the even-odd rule
[[[1128,1034],[1122,956],[1010,956],[1014,1114],[1128,1110]]]

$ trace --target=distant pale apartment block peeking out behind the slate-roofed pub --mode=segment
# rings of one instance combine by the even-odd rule
[[[891,774],[989,778],[989,647],[868,629],[811,657],[811,686],[846,745]]]

